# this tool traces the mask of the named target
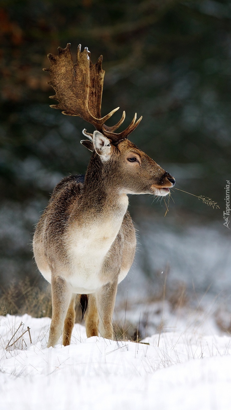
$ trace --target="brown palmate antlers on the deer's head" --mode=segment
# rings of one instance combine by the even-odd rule
[[[102,132],[112,142],[118,143],[126,139],[128,135],[135,130],[142,120],[140,117],[136,121],[136,114],[133,121],[128,125],[126,130],[119,134],[114,131],[119,128],[125,118],[125,111],[119,122],[112,127],[105,125],[118,108],[113,109],[109,114],[101,118],[101,99],[103,92],[103,78],[105,71],[102,70],[101,55],[96,64],[92,64],[91,53],[86,47],[81,52],[81,44],[77,50],[77,63],[73,64],[71,56],[71,44],[68,43],[66,48],[59,47],[59,55],[48,54],[50,68],[43,68],[43,71],[49,71],[51,80],[48,81],[55,90],[55,96],[50,96],[59,102],[56,105],[50,105],[52,108],[62,109],[65,115],[79,116],[85,121],[94,125],[96,130]],[[89,134],[91,135],[91,134]]]

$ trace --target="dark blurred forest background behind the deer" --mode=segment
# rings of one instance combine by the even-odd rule
[[[102,114],[120,107],[143,115],[130,139],[176,178],[169,212],[151,196],[130,198],[139,230],[135,285],[230,293],[230,230],[223,225],[231,179],[231,2],[198,0],[0,1],[0,285],[43,284],[32,260],[32,232],[56,183],[85,173],[91,126],[49,107],[42,71],[48,52],[78,43],[96,62],[103,54]],[[110,125],[110,121],[108,122]],[[171,279],[172,278],[172,279]],[[145,279],[146,280],[146,279]],[[39,282],[40,281],[40,282]],[[120,286],[123,285],[121,283]],[[128,285],[124,285],[126,289]],[[153,290],[152,290],[153,292]]]

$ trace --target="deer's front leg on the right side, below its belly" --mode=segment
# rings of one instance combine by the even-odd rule
[[[117,294],[117,281],[107,283],[96,292],[99,316],[99,335],[105,339],[114,339],[112,315]]]

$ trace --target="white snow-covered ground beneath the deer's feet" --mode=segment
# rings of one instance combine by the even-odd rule
[[[231,408],[231,337],[212,325],[181,321],[144,344],[87,339],[76,324],[70,346],[48,349],[49,325],[49,318],[0,317],[1,410]],[[5,349],[27,326],[32,344],[26,332]]]

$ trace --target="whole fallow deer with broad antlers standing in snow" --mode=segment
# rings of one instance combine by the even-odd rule
[[[102,59],[92,64],[87,47],[78,46],[73,64],[70,44],[48,54],[48,82],[59,103],[50,105],[63,114],[80,116],[94,125],[93,134],[80,141],[92,151],[86,175],[64,178],[55,187],[34,233],[34,257],[41,274],[51,283],[52,320],[48,347],[70,344],[75,322],[75,294],[81,294],[87,337],[113,339],[112,314],[117,285],[133,263],[136,237],[128,213],[127,194],[166,196],[174,178],[129,141],[142,117],[115,133],[105,122],[118,108],[101,118]],[[88,303],[88,305],[87,305]]]

